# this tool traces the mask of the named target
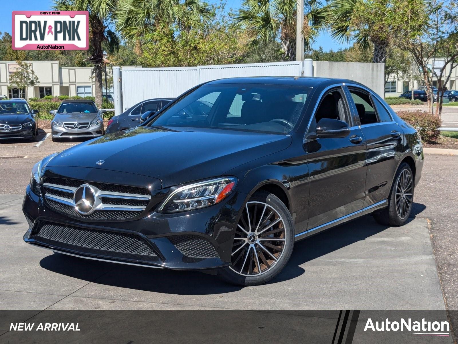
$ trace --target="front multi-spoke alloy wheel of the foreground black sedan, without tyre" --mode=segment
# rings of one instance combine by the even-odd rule
[[[280,260],[285,242],[278,211],[263,202],[247,202],[235,231],[230,269],[243,276],[262,275]]]

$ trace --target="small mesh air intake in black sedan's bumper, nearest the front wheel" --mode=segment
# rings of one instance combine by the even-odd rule
[[[197,235],[172,235],[168,239],[185,256],[191,258],[219,257],[214,246]]]

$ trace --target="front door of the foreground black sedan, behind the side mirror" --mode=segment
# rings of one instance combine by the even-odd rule
[[[313,133],[322,118],[347,122],[350,133],[337,139],[305,139],[310,172],[308,230],[360,211],[365,197],[366,141],[352,122],[343,88],[326,91],[307,133]]]

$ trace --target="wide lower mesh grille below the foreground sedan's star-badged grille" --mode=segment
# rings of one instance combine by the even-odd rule
[[[89,250],[157,257],[154,250],[135,234],[100,231],[44,222],[33,239],[38,241],[46,241],[47,239],[58,243],[56,246],[65,246],[67,244]]]

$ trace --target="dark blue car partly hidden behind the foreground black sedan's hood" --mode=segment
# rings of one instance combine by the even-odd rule
[[[142,115],[147,111],[157,112],[169,104],[173,98],[155,98],[143,100],[131,106],[129,109],[114,116],[108,121],[106,133],[114,133],[120,130],[130,129],[140,124]]]

